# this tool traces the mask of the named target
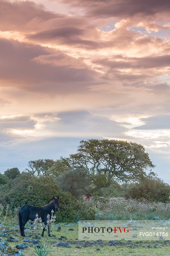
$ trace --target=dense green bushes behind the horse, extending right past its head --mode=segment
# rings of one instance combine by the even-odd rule
[[[91,206],[84,206],[69,192],[63,192],[48,176],[36,178],[24,172],[0,188],[0,203],[4,206],[10,204],[11,210],[24,204],[43,206],[48,204],[53,196],[59,196],[60,200],[60,207],[56,212],[57,222],[94,218],[95,211]]]

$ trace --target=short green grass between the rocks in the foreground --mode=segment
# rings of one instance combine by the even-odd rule
[[[57,232],[57,227],[55,226],[53,228],[53,231],[51,235],[55,235],[55,237],[49,237],[49,241],[57,241],[60,236],[66,236],[67,240],[63,240],[61,242],[68,242],[70,241],[70,248],[65,247],[59,247],[55,246],[54,250],[52,250],[49,254],[49,256],[127,256],[127,255],[134,255],[134,256],[169,256],[170,246],[167,246],[165,244],[154,244],[151,242],[149,243],[139,243],[139,246],[136,247],[135,243],[126,244],[126,245],[114,245],[114,246],[108,246],[108,245],[92,245],[91,247],[82,247],[76,248],[75,244],[71,244],[71,241],[78,241],[78,224],[73,223],[72,226],[65,226],[64,223],[60,224],[61,231]],[[11,228],[11,227],[10,227]],[[73,231],[68,231],[69,228],[73,228]],[[15,229],[15,226],[13,227]],[[68,233],[65,233],[64,231],[68,231]],[[26,232],[26,237],[31,233],[32,236],[33,232]],[[11,247],[14,248],[16,244],[23,243],[23,237],[19,236],[19,232],[12,233],[12,236],[16,236],[18,239],[18,243],[10,243]],[[32,238],[30,237],[30,239]],[[44,237],[42,238],[42,244],[45,243],[47,238],[47,231],[44,233]],[[151,248],[148,248],[151,247]],[[156,247],[156,248],[155,248]],[[100,250],[99,250],[100,249]],[[26,248],[25,252],[23,252],[23,255],[25,256],[33,256],[34,250],[32,247]]]

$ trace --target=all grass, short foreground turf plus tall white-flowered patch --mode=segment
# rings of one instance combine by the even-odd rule
[[[128,220],[130,218],[134,220],[150,220],[152,217],[159,216],[159,218],[170,219],[170,204],[164,204],[161,202],[148,202],[145,204],[144,202],[137,201],[135,199],[126,200],[121,197],[117,198],[109,198],[109,200],[105,200],[100,198],[99,200],[85,200],[83,203],[84,206],[91,206],[96,211],[96,220]],[[140,210],[139,210],[140,209]],[[9,227],[9,235],[15,236],[18,239],[17,243],[10,243],[12,248],[15,248],[16,244],[23,243],[23,239],[29,237],[32,239],[33,236],[36,235],[34,230],[31,230],[30,227],[26,226],[26,228],[30,229],[30,232],[25,232],[26,237],[20,237],[19,231],[15,231],[16,225],[18,225],[18,210],[11,212],[9,207],[4,214],[4,208],[0,205],[0,220],[4,222],[4,225]],[[97,214],[102,213],[102,214]],[[73,219],[78,221],[79,218],[76,219],[73,216]],[[0,222],[1,222],[0,221]],[[119,245],[103,245],[97,244],[92,245],[90,247],[84,247],[83,244],[76,246],[76,244],[72,244],[72,242],[78,241],[78,224],[71,223],[71,226],[65,226],[64,223],[60,223],[61,231],[57,232],[58,226],[54,226],[52,229],[51,235],[55,235],[56,237],[49,237],[48,241],[56,241],[60,242],[58,238],[61,236],[66,236],[67,239],[63,239],[61,242],[70,243],[70,248],[55,246],[54,250],[49,253],[49,256],[127,256],[127,255],[142,255],[142,256],[169,256],[170,255],[170,245],[159,243],[154,244],[151,242],[144,242],[136,246],[135,242],[131,242],[131,244],[120,243]],[[73,231],[69,231],[70,228],[73,228]],[[13,230],[13,231],[12,231]],[[65,232],[65,231],[68,231]],[[44,237],[42,238],[41,243],[45,244],[47,239],[47,231],[44,233]],[[70,242],[69,242],[70,241]],[[100,250],[99,250],[100,249]],[[26,248],[23,251],[24,256],[33,256],[35,255],[35,251],[33,247]]]

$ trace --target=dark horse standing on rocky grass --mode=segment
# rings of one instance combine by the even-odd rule
[[[20,228],[20,233],[21,236],[25,236],[24,233],[24,227],[26,225],[26,222],[28,220],[32,220],[34,221],[36,219],[36,214],[38,214],[38,218],[41,217],[42,222],[44,222],[44,225],[47,225],[47,215],[49,214],[50,218],[51,218],[51,211],[53,210],[55,214],[56,211],[58,211],[58,207],[59,207],[59,196],[58,197],[53,197],[53,200],[51,201],[51,203],[42,206],[42,207],[36,207],[36,206],[32,206],[32,205],[24,205],[21,207],[21,209],[19,210],[18,213],[18,217],[19,217],[19,228]],[[43,228],[42,231],[42,235],[44,236],[44,231],[46,229]],[[48,236],[50,236],[50,229],[49,229],[49,225],[48,225]]]

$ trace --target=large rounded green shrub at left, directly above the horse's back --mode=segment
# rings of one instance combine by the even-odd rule
[[[1,185],[0,203],[10,204],[11,208],[24,204],[42,206],[48,204],[53,196],[61,197],[62,194],[49,177],[36,178],[24,172],[9,184]]]

